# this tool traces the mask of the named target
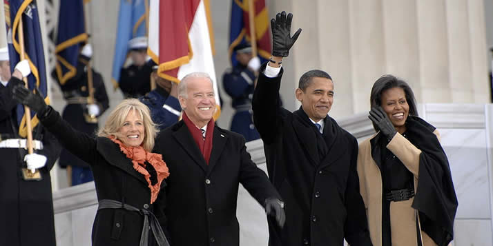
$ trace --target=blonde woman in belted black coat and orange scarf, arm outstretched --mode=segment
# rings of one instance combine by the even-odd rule
[[[93,137],[72,128],[39,94],[17,85],[12,96],[37,112],[43,126],[90,165],[99,203],[93,245],[169,245],[160,226],[164,198],[158,196],[169,172],[161,154],[151,153],[158,130],[146,105],[122,101]]]

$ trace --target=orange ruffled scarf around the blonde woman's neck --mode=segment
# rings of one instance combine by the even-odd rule
[[[124,152],[126,157],[132,160],[133,169],[144,175],[144,178],[146,178],[146,181],[149,184],[148,187],[149,189],[151,189],[151,204],[154,203],[154,201],[156,201],[157,194],[160,193],[161,183],[163,179],[169,176],[168,166],[166,166],[166,163],[163,161],[162,155],[147,152],[142,146],[126,146],[114,137],[110,139],[120,146],[120,150]],[[155,183],[154,185],[152,185],[151,183],[151,174],[149,174],[149,172],[146,170],[146,164],[144,163],[145,161],[151,163],[151,165],[156,170],[157,183]]]

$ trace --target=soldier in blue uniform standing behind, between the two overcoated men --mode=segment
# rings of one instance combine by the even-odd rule
[[[233,99],[231,104],[236,111],[231,121],[231,131],[242,134],[248,142],[260,139],[253,125],[251,110],[260,59],[252,56],[249,44],[237,45],[233,50],[236,52],[238,65],[224,72],[222,84],[226,93]]]

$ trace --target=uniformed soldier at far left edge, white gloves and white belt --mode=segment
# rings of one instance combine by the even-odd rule
[[[32,132],[33,154],[28,154],[26,139],[19,136],[12,89],[23,86],[21,79],[28,74],[24,60],[10,77],[8,49],[0,49],[0,245],[51,246],[56,240],[50,169],[61,147],[41,124]],[[30,170],[38,172],[30,176]]]

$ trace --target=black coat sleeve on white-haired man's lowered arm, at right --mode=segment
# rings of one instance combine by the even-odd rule
[[[240,148],[241,163],[239,177],[243,187],[247,189],[249,194],[251,194],[262,207],[264,207],[264,202],[267,198],[278,198],[279,200],[282,200],[276,188],[274,188],[269,181],[267,174],[251,161],[251,156],[249,152],[247,152],[247,147],[245,146],[243,138],[241,138]]]

